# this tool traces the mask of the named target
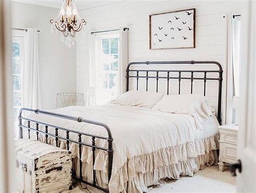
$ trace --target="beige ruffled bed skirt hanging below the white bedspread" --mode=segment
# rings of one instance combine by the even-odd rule
[[[39,140],[45,141],[44,137]],[[54,139],[49,139],[55,144]],[[66,142],[59,140],[59,147],[66,148]],[[96,183],[103,188],[109,188],[111,193],[116,192],[146,192],[150,187],[159,185],[163,180],[175,179],[179,176],[197,175],[199,169],[217,164],[219,149],[219,135],[208,137],[180,146],[169,147],[128,159],[121,168],[112,172],[110,183],[107,178],[107,154],[97,151],[94,169],[96,170]],[[75,170],[79,176],[78,146],[70,143],[71,156],[75,157]],[[91,148],[82,149],[82,175],[85,181],[93,181],[92,151]],[[82,184],[86,187],[85,184]],[[102,192],[88,186],[91,192]]]

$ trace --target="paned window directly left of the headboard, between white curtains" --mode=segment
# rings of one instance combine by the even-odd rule
[[[105,104],[117,97],[118,36],[103,36],[98,40],[97,104]]]

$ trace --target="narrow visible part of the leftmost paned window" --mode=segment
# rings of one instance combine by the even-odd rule
[[[23,62],[22,36],[12,36],[12,82],[13,82],[13,119],[17,124],[19,109],[22,107],[22,62]],[[17,125],[16,125],[17,127]],[[15,127],[15,128],[16,128]]]

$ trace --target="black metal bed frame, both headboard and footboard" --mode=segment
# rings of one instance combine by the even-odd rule
[[[219,67],[219,70],[130,70],[130,66],[132,65],[158,65],[158,64],[216,64]],[[129,72],[137,72],[137,75],[129,75]],[[139,72],[146,72],[146,75],[139,75]],[[149,72],[156,72],[156,76],[149,76]],[[166,72],[166,77],[163,76],[159,76],[159,72]],[[177,72],[178,76],[177,77],[170,77],[170,72]],[[191,73],[191,77],[181,77],[181,73],[183,72],[190,72]],[[196,78],[193,76],[193,73],[203,73],[204,77],[203,78]],[[218,78],[207,78],[206,74],[207,73],[213,73],[213,72],[218,72],[219,73],[219,77]],[[167,79],[167,94],[169,94],[169,80],[170,79],[178,79],[179,81],[179,89],[178,89],[178,94],[180,94],[180,81],[181,79],[189,79],[191,80],[191,94],[193,93],[193,80],[204,80],[204,95],[205,95],[205,90],[206,90],[206,80],[218,80],[219,81],[219,89],[218,89],[218,113],[217,113],[217,119],[219,122],[221,122],[221,87],[222,87],[222,80],[223,80],[223,70],[221,65],[217,62],[217,61],[146,61],[146,62],[134,62],[134,63],[130,63],[127,68],[126,68],[126,91],[129,91],[129,78],[136,78],[137,79],[137,90],[138,90],[138,86],[139,86],[139,78],[145,78],[146,79],[146,91],[148,88],[148,79],[156,79],[156,91],[158,92],[158,80],[159,79]],[[36,114],[43,114],[43,115],[48,115],[48,116],[54,116],[57,118],[62,118],[62,119],[68,119],[68,120],[72,120],[72,121],[77,121],[77,122],[85,122],[85,123],[89,123],[92,125],[97,125],[97,126],[101,126],[103,128],[105,128],[106,132],[107,132],[107,137],[105,136],[98,136],[98,135],[92,135],[89,133],[83,133],[83,132],[77,132],[76,130],[72,130],[72,129],[68,129],[68,128],[64,128],[64,127],[58,127],[58,126],[54,126],[54,125],[50,125],[48,123],[44,123],[41,121],[37,121],[37,120],[33,120],[33,119],[29,119],[29,118],[25,118],[23,116],[23,112],[34,112]],[[95,187],[99,190],[102,190],[104,192],[109,192],[108,189],[102,188],[99,185],[97,185],[96,183],[96,171],[93,168],[93,182],[87,182],[83,179],[83,175],[82,175],[82,146],[86,146],[86,147],[90,147],[92,148],[92,153],[93,153],[93,157],[92,157],[92,164],[93,166],[95,165],[95,151],[96,149],[99,150],[103,150],[103,151],[107,151],[108,154],[108,178],[110,181],[111,178],[111,172],[112,172],[112,164],[113,164],[113,137],[111,134],[111,130],[109,128],[109,126],[107,126],[105,123],[103,122],[98,122],[98,121],[93,121],[93,120],[87,120],[84,119],[82,117],[75,117],[75,116],[70,116],[70,115],[63,115],[63,114],[58,114],[58,113],[52,113],[52,112],[47,112],[47,111],[41,111],[39,109],[30,109],[30,108],[22,108],[19,111],[19,116],[18,116],[18,120],[19,120],[19,138],[23,138],[23,130],[27,130],[28,132],[28,137],[30,139],[30,132],[31,130],[33,132],[36,132],[36,137],[37,140],[39,140],[39,133],[41,133],[42,135],[45,136],[45,142],[48,143],[48,137],[53,137],[55,138],[55,144],[56,147],[58,147],[58,141],[59,140],[63,140],[66,141],[66,149],[69,150],[69,144],[70,142],[73,143],[77,143],[78,144],[78,148],[79,148],[79,177],[77,177],[76,175],[76,171],[75,169],[72,169],[72,177],[73,179],[79,181],[79,182],[83,182],[87,185],[90,185],[91,187]],[[25,123],[25,121],[27,121],[27,125],[24,125],[23,123]],[[34,122],[36,123],[36,128],[32,128],[30,126],[30,123]],[[44,126],[44,130],[39,130],[39,124]],[[55,133],[49,133],[49,127],[51,128],[55,128]],[[59,136],[58,131],[59,130],[64,130],[66,132],[66,136]],[[75,135],[78,136],[78,140],[74,140],[74,139],[70,139],[70,133],[73,133]],[[82,141],[82,136],[89,136],[92,139],[91,144],[89,143],[85,143]],[[104,147],[100,147],[96,145],[95,139],[102,139],[102,140],[106,140],[108,147],[104,148]],[[73,159],[72,159],[73,160]]]

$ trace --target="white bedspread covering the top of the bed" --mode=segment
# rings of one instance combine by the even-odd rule
[[[113,104],[67,107],[52,110],[51,112],[81,116],[85,119],[104,122],[110,127],[114,139],[112,175],[117,173],[127,160],[131,160],[134,157],[152,154],[161,149],[181,146],[189,142],[212,137],[218,133],[217,126],[219,124],[214,116],[207,120],[204,129],[196,129],[195,120],[191,115],[164,113],[149,108]],[[107,136],[103,127],[88,123],[79,123],[35,113],[30,114],[29,117],[59,127]],[[54,134],[54,128],[52,130],[49,128],[49,133]],[[65,135],[65,131],[59,130],[59,136],[65,137]],[[78,139],[77,135],[70,134],[70,139],[74,139],[74,137]],[[82,140],[83,142],[91,143],[91,137],[83,137]],[[107,143],[104,140],[96,140],[96,145],[107,147]],[[195,151],[197,155],[204,155],[204,153],[200,152],[200,149]],[[189,154],[189,152],[186,154]],[[192,155],[192,157],[197,155]],[[190,156],[187,155],[187,157]],[[83,159],[83,161],[86,161],[86,157]]]

